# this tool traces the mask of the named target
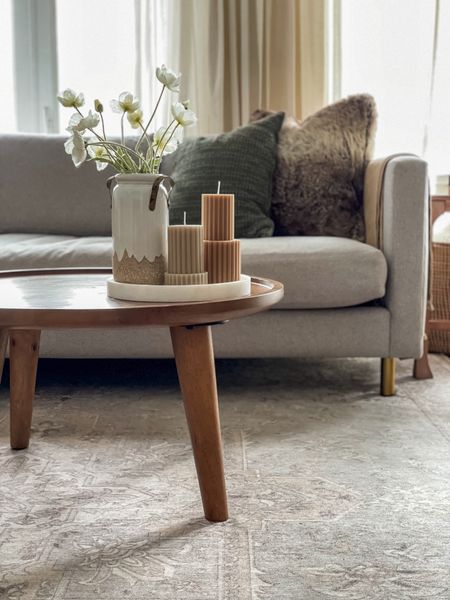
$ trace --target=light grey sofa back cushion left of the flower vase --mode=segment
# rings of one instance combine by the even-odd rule
[[[0,233],[108,235],[108,168],[76,169],[67,135],[0,135]]]

